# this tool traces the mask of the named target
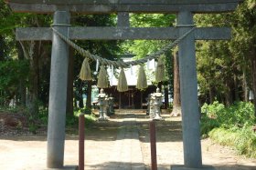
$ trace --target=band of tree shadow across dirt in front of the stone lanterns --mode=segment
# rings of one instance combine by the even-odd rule
[[[135,117],[134,117],[135,116]],[[134,117],[134,120],[130,118]],[[85,128],[85,140],[114,141],[116,136],[126,131],[136,131],[141,142],[149,143],[149,117],[143,114],[122,114],[113,115],[110,121],[95,122]],[[66,129],[66,140],[78,140],[78,128]],[[47,132],[43,135],[14,135],[0,136],[1,140],[14,141],[47,141]],[[179,142],[182,141],[181,121],[163,120],[156,122],[157,142]]]

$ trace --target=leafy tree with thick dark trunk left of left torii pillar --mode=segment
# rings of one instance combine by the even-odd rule
[[[49,43],[48,42],[22,42],[16,43],[15,39],[15,28],[16,27],[31,27],[31,26],[44,26],[51,23],[51,18],[49,15],[33,15],[33,14],[14,14],[10,8],[1,0],[0,7],[0,33],[8,39],[12,45],[10,51],[7,52],[9,58],[14,58],[17,56],[19,60],[27,60],[29,63],[28,71],[28,84],[27,84],[27,108],[31,115],[37,115],[38,97],[40,95],[40,75],[45,75],[43,72],[43,66],[48,63],[49,56]],[[5,58],[8,59],[8,58]],[[20,90],[26,95],[26,87],[24,86],[24,80],[19,80]],[[47,82],[48,80],[43,80],[42,82]],[[21,90],[23,89],[23,90]],[[16,94],[18,95],[18,94]],[[44,96],[44,95],[40,95]],[[44,96],[48,97],[48,96]],[[21,97],[25,98],[25,97]],[[23,99],[23,101],[25,101]]]

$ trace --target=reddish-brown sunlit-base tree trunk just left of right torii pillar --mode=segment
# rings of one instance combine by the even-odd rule
[[[181,115],[178,54],[174,55],[174,105],[172,116]]]

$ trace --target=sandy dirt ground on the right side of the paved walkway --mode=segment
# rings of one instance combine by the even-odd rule
[[[156,125],[158,169],[170,169],[170,165],[183,165],[183,144],[180,118],[159,122]],[[144,164],[150,166],[148,125],[140,125],[140,140]],[[236,155],[229,147],[214,144],[210,139],[201,140],[203,165],[213,165],[217,170],[256,170],[256,159]]]

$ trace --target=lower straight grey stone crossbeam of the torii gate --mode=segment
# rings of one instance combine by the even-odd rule
[[[70,27],[69,38],[74,40],[125,40],[125,39],[177,39],[180,27]],[[196,40],[230,39],[231,30],[228,27],[196,28]],[[51,40],[50,28],[17,28],[16,40]]]

